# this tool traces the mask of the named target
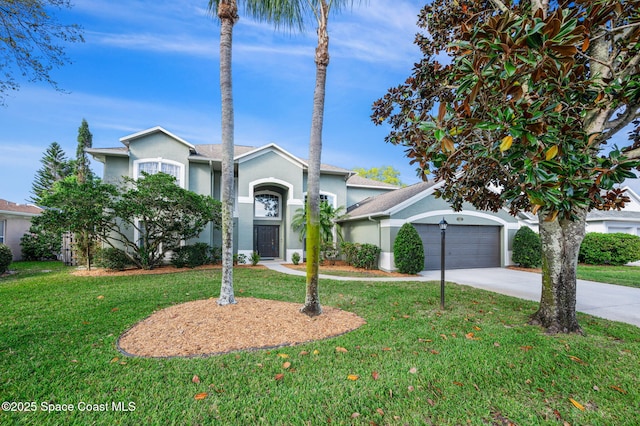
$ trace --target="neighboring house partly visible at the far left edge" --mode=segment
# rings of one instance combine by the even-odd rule
[[[16,204],[0,199],[0,243],[13,253],[13,260],[22,260],[20,238],[29,231],[31,218],[42,209],[31,204]]]

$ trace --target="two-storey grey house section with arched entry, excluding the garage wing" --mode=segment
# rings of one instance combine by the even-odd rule
[[[161,127],[125,136],[120,142],[123,147],[87,149],[104,164],[105,182],[162,171],[175,176],[183,188],[220,199],[221,145],[193,145]],[[303,243],[291,230],[291,221],[296,210],[304,207],[307,171],[305,160],[276,144],[235,146],[234,248],[238,254],[257,251],[263,258],[286,260],[295,252],[303,254]],[[336,208],[395,189],[350,170],[321,167],[320,196]],[[220,246],[221,235],[208,227],[197,241]]]

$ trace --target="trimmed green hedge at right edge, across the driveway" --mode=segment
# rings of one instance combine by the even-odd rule
[[[640,237],[630,234],[585,235],[578,260],[592,265],[625,265],[640,260]]]

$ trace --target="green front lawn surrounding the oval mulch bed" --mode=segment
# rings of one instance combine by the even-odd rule
[[[439,283],[322,280],[323,304],[365,326],[271,351],[125,358],[121,333],[154,310],[215,297],[220,272],[95,278],[16,265],[0,279],[0,399],[37,411],[2,411],[0,424],[637,424],[640,329],[630,325],[579,315],[586,337],[547,336],[526,325],[536,309],[527,301],[448,284],[440,312]],[[302,305],[304,287],[304,277],[235,272],[236,296]]]

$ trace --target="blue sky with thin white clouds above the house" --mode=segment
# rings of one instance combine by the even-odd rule
[[[391,165],[417,182],[388,128],[370,121],[372,103],[410,75],[423,0],[371,0],[329,22],[322,161],[345,168]],[[20,81],[0,107],[0,198],[24,203],[53,141],[74,156],[85,118],[94,147],[162,126],[193,144],[220,143],[219,33],[207,0],[76,0],[60,15],[84,28],[67,45],[72,64],[52,77],[68,93]],[[242,11],[241,11],[242,12]],[[276,31],[241,16],[234,28],[235,142],[274,142],[308,157],[315,83],[315,26]],[[93,161],[101,175],[100,164]]]

